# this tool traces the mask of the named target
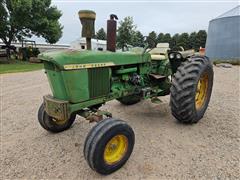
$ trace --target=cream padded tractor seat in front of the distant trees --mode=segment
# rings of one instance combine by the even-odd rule
[[[167,59],[167,50],[169,50],[169,43],[158,43],[157,47],[153,48],[149,53],[152,60]]]

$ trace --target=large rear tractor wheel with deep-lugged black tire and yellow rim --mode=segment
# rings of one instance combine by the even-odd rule
[[[197,123],[208,107],[212,86],[213,66],[207,57],[195,56],[184,62],[172,79],[172,115],[182,123]]]

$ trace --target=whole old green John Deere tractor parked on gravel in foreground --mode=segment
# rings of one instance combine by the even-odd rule
[[[79,11],[88,50],[38,56],[52,91],[43,97],[38,120],[53,133],[69,129],[77,115],[97,122],[86,137],[84,157],[94,171],[110,174],[129,159],[135,136],[126,122],[100,107],[114,99],[132,105],[170,94],[172,115],[181,123],[197,123],[208,107],[213,67],[205,56],[157,49],[151,54],[149,38],[142,51],[116,52],[115,15],[107,21],[107,51],[91,51],[95,16],[93,11]]]

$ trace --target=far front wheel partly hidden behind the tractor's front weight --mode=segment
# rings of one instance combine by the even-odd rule
[[[56,120],[53,117],[49,116],[44,109],[44,105],[41,104],[38,110],[38,122],[40,125],[47,131],[50,132],[61,132],[69,129],[73,122],[75,121],[76,115],[72,114],[71,117],[67,120]]]

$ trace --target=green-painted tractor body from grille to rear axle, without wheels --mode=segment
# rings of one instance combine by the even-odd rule
[[[151,61],[150,54],[106,51],[57,51],[41,54],[52,90],[53,98],[68,101],[68,114],[120,97],[151,89],[143,98],[163,96],[169,93],[172,75],[168,60]],[[108,67],[90,67],[92,63],[114,63]],[[87,68],[65,70],[64,65],[86,64]],[[131,82],[138,74],[139,83]],[[149,74],[165,76],[157,80]]]

